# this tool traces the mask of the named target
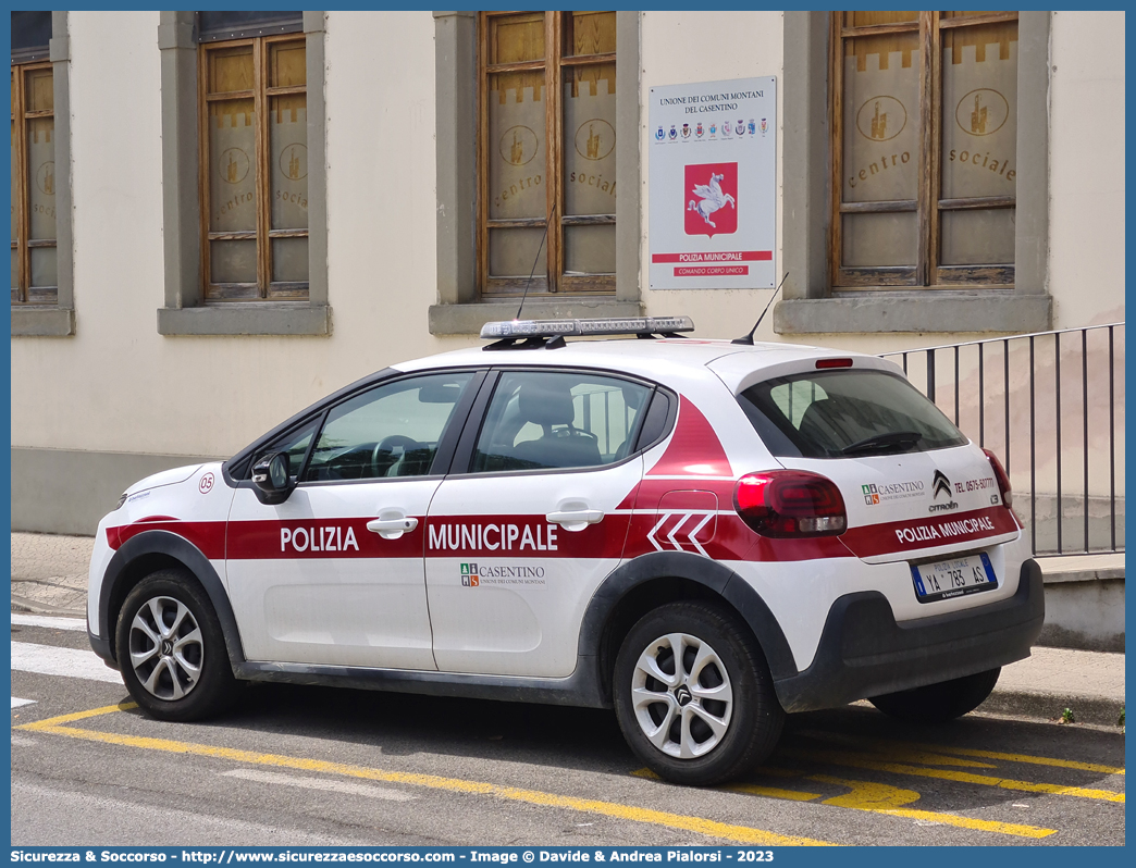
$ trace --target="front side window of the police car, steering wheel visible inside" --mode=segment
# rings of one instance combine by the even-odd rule
[[[303,482],[425,476],[473,376],[463,372],[400,379],[333,407]]]

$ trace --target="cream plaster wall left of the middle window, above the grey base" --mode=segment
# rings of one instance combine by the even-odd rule
[[[468,343],[426,331],[433,27],[327,16],[333,336],[164,337],[158,14],[72,12],[76,334],[12,339],[12,445],[231,454],[352,379]]]

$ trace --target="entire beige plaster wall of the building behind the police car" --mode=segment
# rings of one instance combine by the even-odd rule
[[[779,11],[644,12],[641,93],[776,75]],[[70,14],[77,334],[11,341],[16,446],[229,454],[333,389],[400,359],[477,343],[432,337],[436,298],[434,23],[429,12],[327,16],[327,198],[333,336],[162,337],[157,12]],[[712,33],[713,50],[692,50]],[[1053,18],[1050,281],[1056,325],[1124,318],[1124,20]],[[766,291],[645,286],[650,131],[643,98],[642,298],[699,334],[747,331]],[[780,184],[778,159],[778,185]],[[780,264],[780,214],[777,215]],[[778,340],[771,316],[759,340]],[[975,335],[810,335],[885,352]]]

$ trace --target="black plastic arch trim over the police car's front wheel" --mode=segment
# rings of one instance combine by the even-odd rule
[[[102,587],[99,591],[99,626],[106,636],[95,639],[100,640],[100,644],[105,642],[107,653],[110,654],[109,661],[116,661],[115,625],[110,617],[111,602],[118,595],[122,583],[130,575],[130,567],[139,558],[147,554],[164,554],[176,560],[193,574],[209,598],[209,602],[212,603],[214,611],[217,612],[229,662],[233,666],[244,662],[244,648],[241,644],[236,616],[233,614],[233,607],[220,576],[217,575],[212,564],[197,545],[184,536],[178,536],[169,531],[145,531],[132,536],[118,548],[107,565],[102,577]],[[125,598],[125,595],[120,596]]]

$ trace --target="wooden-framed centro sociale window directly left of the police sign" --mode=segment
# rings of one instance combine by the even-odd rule
[[[483,297],[616,287],[616,14],[481,12]]]

